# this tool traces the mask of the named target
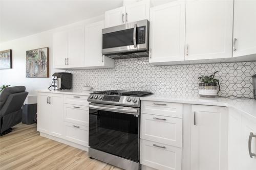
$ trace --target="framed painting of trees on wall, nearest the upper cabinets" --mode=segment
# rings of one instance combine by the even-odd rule
[[[26,52],[26,77],[49,77],[49,47],[38,48]]]

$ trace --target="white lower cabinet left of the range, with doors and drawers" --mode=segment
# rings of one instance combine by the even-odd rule
[[[38,92],[37,131],[88,147],[87,98],[84,95]]]

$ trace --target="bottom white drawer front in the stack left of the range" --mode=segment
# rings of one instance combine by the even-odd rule
[[[65,123],[65,138],[77,144],[88,147],[88,127]]]

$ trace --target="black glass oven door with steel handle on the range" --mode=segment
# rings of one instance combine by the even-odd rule
[[[89,146],[139,161],[139,108],[89,104]]]

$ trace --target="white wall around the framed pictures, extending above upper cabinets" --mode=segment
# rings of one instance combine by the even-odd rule
[[[51,75],[61,70],[53,70],[53,46],[52,36],[54,32],[67,29],[77,25],[84,25],[99,20],[104,16],[73,23],[72,25],[56,28],[39,34],[7,41],[0,44],[0,51],[12,50],[12,69],[0,70],[0,86],[2,85],[24,85],[30,94],[36,94],[37,89],[46,89],[51,84]],[[26,51],[41,47],[49,47],[49,78],[26,78]]]

